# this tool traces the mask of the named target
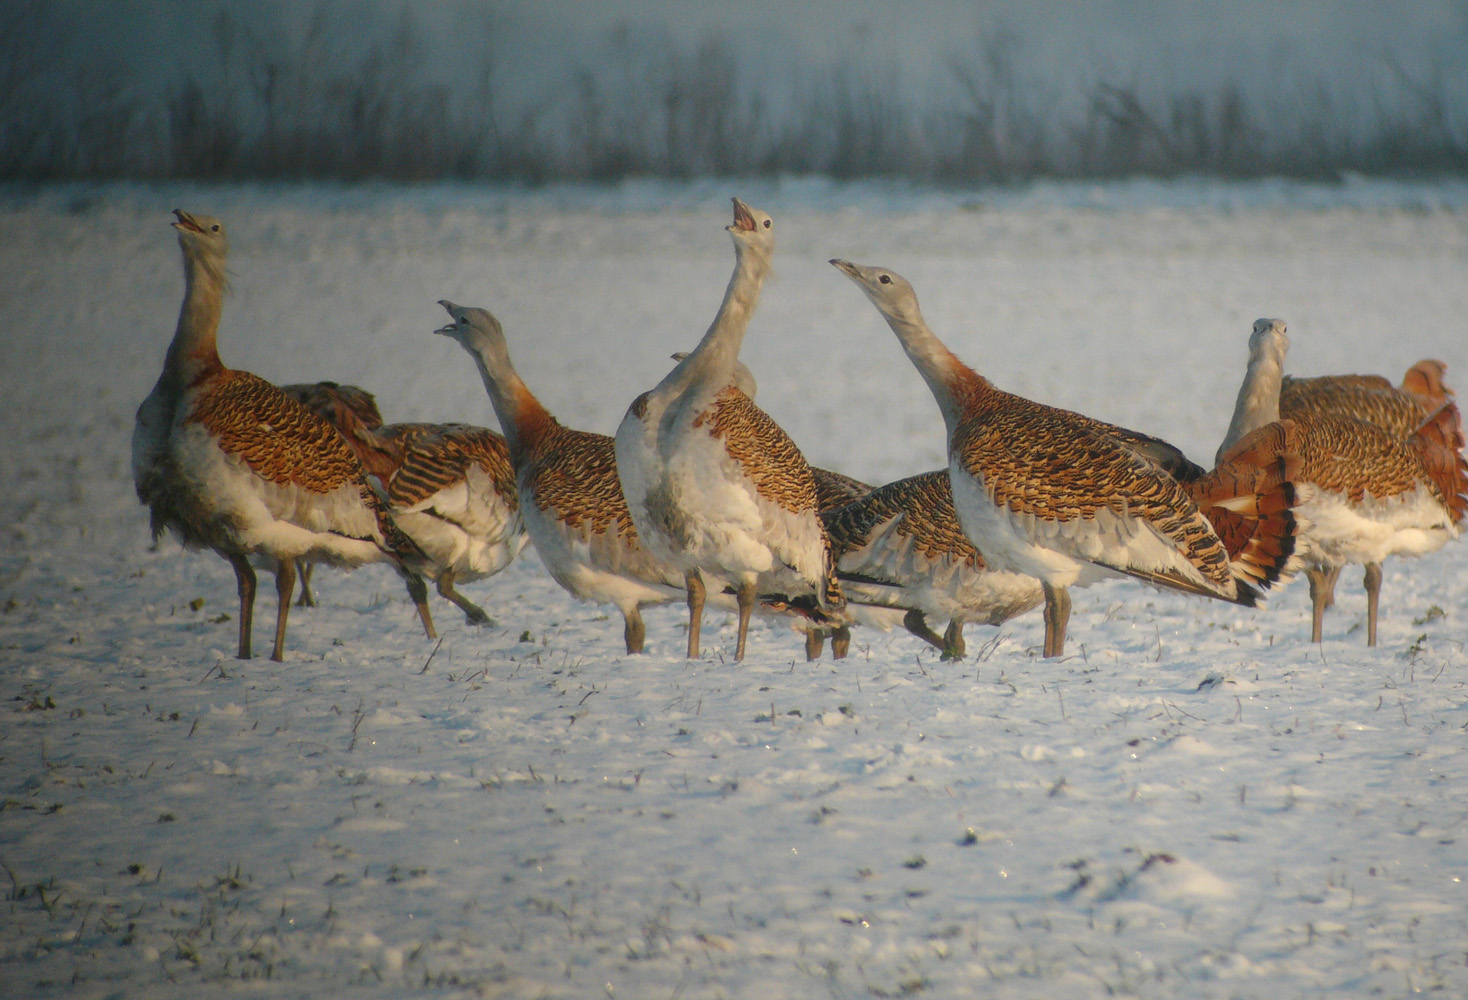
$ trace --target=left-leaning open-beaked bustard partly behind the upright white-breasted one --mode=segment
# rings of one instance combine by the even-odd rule
[[[509,443],[520,514],[546,570],[580,601],[622,612],[627,652],[640,653],[644,605],[683,598],[683,574],[637,536],[617,477],[612,439],[562,427],[515,373],[505,333],[489,311],[439,301],[454,322],[435,330],[479,366]]]

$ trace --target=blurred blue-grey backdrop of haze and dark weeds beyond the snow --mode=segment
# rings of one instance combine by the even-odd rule
[[[31,0],[0,178],[1462,173],[1468,3]]]

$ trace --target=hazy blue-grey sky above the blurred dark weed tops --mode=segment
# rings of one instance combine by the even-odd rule
[[[9,0],[6,0],[9,1]],[[324,6],[338,43],[386,29],[411,10],[424,41],[423,72],[452,76],[455,48],[493,38],[506,87],[539,88],[605,56],[622,25],[633,43],[671,38],[691,47],[716,34],[755,78],[799,76],[803,65],[844,62],[891,72],[898,85],[934,87],[945,60],[1009,38],[1036,78],[1104,76],[1126,85],[1218,81],[1270,88],[1274,81],[1349,78],[1387,53],[1422,72],[1462,76],[1468,62],[1465,0],[57,0],[87,54],[120,54],[157,79],[213,57],[217,12],[263,38],[299,40]],[[1450,54],[1456,48],[1456,60]],[[1446,65],[1456,62],[1456,66]]]

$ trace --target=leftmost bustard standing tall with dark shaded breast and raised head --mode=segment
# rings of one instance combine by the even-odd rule
[[[153,392],[132,429],[132,476],[153,536],[229,559],[239,589],[241,659],[250,658],[255,573],[275,567],[280,605],[275,646],[285,649],[295,559],[335,565],[390,561],[410,573],[418,558],[373,493],[341,435],[279,388],[226,369],[216,336],[223,311],[225,228],[175,210],[184,251],[184,307]]]

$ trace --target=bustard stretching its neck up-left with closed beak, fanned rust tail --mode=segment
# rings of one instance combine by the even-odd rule
[[[995,389],[934,335],[898,275],[831,263],[887,319],[942,411],[964,535],[992,568],[1041,581],[1045,656],[1064,652],[1072,586],[1120,573],[1255,606],[1286,571],[1295,532],[1287,426],[1240,442],[1185,486],[1108,424]],[[1214,508],[1229,515],[1227,537],[1210,523]]]

